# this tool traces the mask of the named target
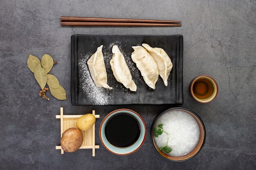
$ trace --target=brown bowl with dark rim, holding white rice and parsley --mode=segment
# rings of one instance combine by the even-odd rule
[[[166,114],[166,113],[170,113],[173,110],[181,110],[184,111],[186,113],[188,113],[189,115],[191,115],[192,117],[195,118],[195,120],[198,123],[199,129],[200,129],[200,136],[199,136],[199,140],[198,140],[198,144],[195,146],[195,148],[193,148],[193,150],[191,150],[189,153],[185,154],[185,155],[181,155],[181,156],[171,156],[171,155],[167,155],[166,153],[162,152],[161,150],[159,150],[159,148],[157,147],[157,145],[155,144],[155,140],[154,140],[154,127],[157,124],[157,121],[159,120],[160,117],[162,117],[162,115]],[[175,161],[175,162],[181,162],[181,161],[186,161],[191,159],[192,157],[194,157],[195,155],[198,154],[198,152],[202,149],[202,147],[204,146],[204,142],[205,142],[205,137],[206,137],[206,132],[205,132],[205,127],[204,127],[204,123],[202,122],[202,120],[200,119],[200,117],[193,112],[190,109],[187,108],[182,108],[182,107],[176,107],[176,108],[169,108],[168,110],[164,111],[163,113],[161,113],[160,115],[158,115],[155,118],[154,124],[151,128],[151,132],[150,132],[150,139],[151,139],[151,143],[153,145],[153,148],[155,149],[155,151],[164,159],[167,159],[169,161]]]

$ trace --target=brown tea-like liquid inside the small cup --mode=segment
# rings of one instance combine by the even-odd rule
[[[209,79],[198,79],[193,84],[193,93],[199,99],[208,99],[213,95],[213,84]]]

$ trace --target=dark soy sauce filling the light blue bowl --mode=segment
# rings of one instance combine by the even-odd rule
[[[110,144],[126,148],[139,139],[139,122],[132,115],[119,113],[108,120],[105,135]]]

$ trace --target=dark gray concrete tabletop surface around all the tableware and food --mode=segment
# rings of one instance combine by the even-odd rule
[[[256,1],[255,0],[1,0],[0,2],[0,169],[195,169],[249,170],[256,168]],[[175,27],[70,27],[60,16],[182,20]],[[173,35],[184,36],[184,104],[202,118],[207,131],[202,151],[193,159],[168,162],[153,150],[149,129],[156,115],[171,106],[72,106],[70,100],[70,36]],[[51,55],[59,64],[56,75],[67,100],[38,96],[39,86],[27,68],[27,57]],[[190,81],[213,76],[218,97],[196,102]],[[96,156],[91,150],[60,154],[59,108],[65,114],[92,109],[96,122]],[[148,128],[144,145],[128,156],[108,152],[99,139],[99,126],[112,110],[137,111]]]

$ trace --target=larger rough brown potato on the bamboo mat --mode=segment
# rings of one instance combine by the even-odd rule
[[[61,137],[61,148],[65,152],[75,152],[83,144],[83,134],[77,128],[67,129]]]

